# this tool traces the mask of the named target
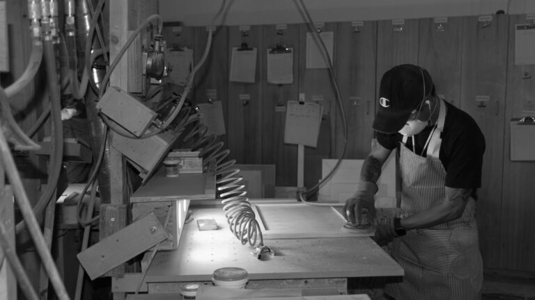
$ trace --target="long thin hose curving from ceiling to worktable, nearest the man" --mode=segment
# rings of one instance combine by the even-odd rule
[[[336,96],[336,103],[338,103],[338,105],[340,107],[340,112],[341,112],[341,117],[342,117],[342,124],[343,124],[343,149],[342,149],[342,151],[340,153],[340,156],[338,157],[338,160],[336,161],[336,164],[334,165],[332,170],[324,178],[322,178],[316,185],[314,185],[312,188],[310,188],[309,190],[306,190],[306,191],[298,192],[298,197],[300,198],[301,201],[303,201],[303,203],[309,204],[311,206],[343,206],[343,203],[319,203],[319,202],[307,201],[307,199],[306,199],[307,197],[304,197],[304,195],[306,195],[306,194],[311,194],[312,192],[318,192],[318,190],[320,188],[320,185],[323,185],[323,183],[328,181],[329,178],[331,178],[331,176],[334,174],[334,172],[336,172],[336,170],[338,169],[338,167],[339,167],[339,165],[340,165],[340,163],[342,161],[342,158],[346,153],[346,148],[347,148],[347,144],[348,144],[348,122],[347,122],[347,119],[346,119],[346,111],[343,108],[342,97],[341,97],[341,94],[340,94],[340,89],[338,87],[338,81],[336,80],[336,74],[334,72],[334,67],[332,65],[332,60],[331,60],[331,58],[329,56],[329,52],[327,51],[327,47],[325,47],[325,43],[323,42],[320,34],[316,30],[316,27],[314,26],[314,22],[313,22],[312,18],[310,17],[309,10],[307,9],[307,6],[304,5],[303,0],[294,0],[294,1],[296,2],[297,8],[300,8],[304,12],[304,15],[306,17],[306,22],[307,22],[307,24],[309,26],[309,30],[316,37],[316,40],[317,40],[318,44],[320,44],[320,49],[321,49],[321,52],[323,54],[323,58],[325,58],[325,61],[327,61],[328,69],[329,69],[329,78],[331,79],[331,83],[332,83],[332,86],[333,86],[333,89],[334,89],[334,93],[335,93],[335,96]],[[301,7],[297,5],[297,2],[300,3]]]

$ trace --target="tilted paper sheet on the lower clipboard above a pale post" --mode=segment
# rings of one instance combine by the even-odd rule
[[[323,106],[318,103],[288,101],[284,142],[316,148],[322,115]]]

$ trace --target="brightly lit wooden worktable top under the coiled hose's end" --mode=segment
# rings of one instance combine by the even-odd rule
[[[146,282],[211,281],[222,267],[242,267],[250,280],[402,276],[403,269],[371,238],[265,240],[276,255],[256,259],[228,229],[222,208],[192,208],[178,249],[159,251]],[[215,219],[215,231],[199,231],[196,219]],[[342,225],[342,224],[340,224]]]

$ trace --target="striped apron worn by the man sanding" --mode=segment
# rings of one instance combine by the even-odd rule
[[[440,101],[437,125],[419,156],[401,142],[401,217],[408,217],[445,201],[446,171],[438,158],[446,106]],[[414,147],[414,141],[412,143]],[[403,299],[480,299],[483,263],[479,252],[475,201],[470,198],[458,219],[415,229],[396,238],[391,255],[403,267],[401,283],[391,283],[385,292]]]

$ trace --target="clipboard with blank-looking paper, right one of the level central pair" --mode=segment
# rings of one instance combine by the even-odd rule
[[[279,43],[267,49],[267,83],[293,83],[293,48]]]

